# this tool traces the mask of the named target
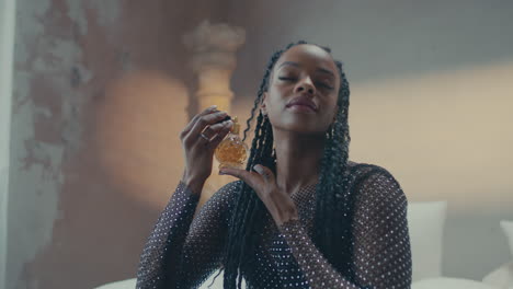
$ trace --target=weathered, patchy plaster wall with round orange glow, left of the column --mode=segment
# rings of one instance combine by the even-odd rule
[[[7,288],[135,275],[183,170],[181,35],[217,14],[207,1],[18,1]]]

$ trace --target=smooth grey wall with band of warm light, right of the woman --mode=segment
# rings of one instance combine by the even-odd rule
[[[410,201],[448,200],[444,275],[480,280],[511,259],[499,227],[513,219],[511,11],[509,1],[231,1],[249,35],[233,88],[254,97],[289,42],[331,47],[351,83],[351,159],[389,169]]]

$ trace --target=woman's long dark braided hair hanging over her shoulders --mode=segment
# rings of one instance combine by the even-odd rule
[[[243,131],[243,140],[246,140],[247,132],[250,130],[254,113],[261,105],[262,95],[269,89],[270,76],[274,65],[286,50],[300,44],[308,43],[304,41],[292,43],[284,49],[274,53],[271,57],[253,108],[251,109],[251,117],[247,120],[248,127]],[[319,47],[331,54],[330,48]],[[340,77],[337,102],[339,111],[335,115],[335,122],[330,125],[326,132],[321,172],[316,186],[316,216],[312,241],[335,268],[343,270],[349,269],[343,267],[343,261],[346,261],[347,256],[344,256],[343,254],[346,254],[344,253],[345,251],[339,247],[341,242],[344,241],[344,236],[347,236],[347,232],[343,230],[344,228],[349,228],[349,226],[344,226],[347,224],[349,220],[344,217],[349,216],[349,210],[351,209],[346,199],[349,196],[345,194],[347,192],[347,175],[344,174],[346,172],[349,144],[351,141],[347,124],[350,89],[342,63],[337,60],[334,62]],[[251,171],[253,165],[260,163],[276,173],[276,152],[273,149],[273,142],[271,123],[267,117],[264,117],[260,113],[256,117],[256,127],[246,167],[247,171]],[[249,185],[240,182],[238,192],[224,253],[225,289],[241,288],[242,276],[247,265],[243,262],[244,256],[255,250],[258,238],[263,229],[263,222],[256,220],[262,220],[266,213],[264,204]]]

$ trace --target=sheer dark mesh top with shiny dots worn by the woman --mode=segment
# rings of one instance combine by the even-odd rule
[[[331,265],[312,242],[315,185],[292,195],[299,220],[276,227],[267,213],[247,288],[410,288],[412,263],[407,198],[384,167],[349,162],[354,194],[345,268]],[[201,208],[198,197],[180,183],[160,215],[140,257],[137,288],[198,288],[221,266],[238,182],[231,182]],[[349,274],[351,273],[351,274]]]

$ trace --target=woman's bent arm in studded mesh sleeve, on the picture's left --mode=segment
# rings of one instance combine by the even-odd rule
[[[180,182],[142,251],[137,288],[193,288],[220,265],[236,183],[216,192],[193,219],[198,194]]]

